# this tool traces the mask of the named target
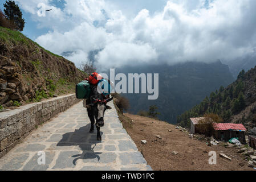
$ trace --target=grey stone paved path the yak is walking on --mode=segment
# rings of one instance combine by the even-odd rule
[[[39,126],[23,143],[0,159],[0,170],[152,170],[123,129],[113,102],[105,112],[102,141],[89,133],[90,119],[82,102]],[[44,165],[38,164],[43,151]],[[41,157],[41,158],[40,158]]]

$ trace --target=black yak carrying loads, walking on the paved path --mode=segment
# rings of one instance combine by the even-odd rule
[[[113,97],[107,98],[104,94],[97,92],[97,86],[92,87],[90,97],[86,100],[87,114],[91,121],[90,133],[94,132],[94,123],[96,120],[97,140],[101,141],[100,127],[104,126],[104,113],[107,109],[112,109],[107,105]]]

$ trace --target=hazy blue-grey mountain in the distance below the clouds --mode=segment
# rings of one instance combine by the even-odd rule
[[[159,118],[169,123],[176,123],[177,115],[199,104],[212,90],[233,81],[229,68],[220,61],[212,64],[133,65],[116,69],[116,73],[159,73],[157,100],[148,100],[148,94],[123,95],[130,102],[130,113],[136,114],[157,105],[161,113]]]

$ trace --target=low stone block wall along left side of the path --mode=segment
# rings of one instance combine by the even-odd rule
[[[39,124],[79,101],[75,94],[70,94],[0,113],[0,158],[21,143]]]

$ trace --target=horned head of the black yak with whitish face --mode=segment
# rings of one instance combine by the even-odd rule
[[[108,106],[107,103],[113,100],[113,97],[103,99],[102,97],[96,98],[95,96],[91,97],[91,104],[86,105],[87,108],[91,108],[94,113],[94,118],[96,119],[96,126],[104,126],[104,114],[105,110],[112,109],[111,106]]]

